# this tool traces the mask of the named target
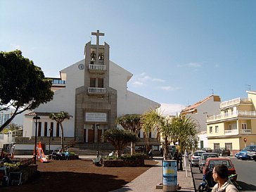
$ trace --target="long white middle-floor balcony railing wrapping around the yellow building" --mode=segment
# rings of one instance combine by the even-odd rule
[[[234,117],[251,117],[256,118],[256,111],[248,111],[248,110],[236,110],[232,113],[224,113],[219,115],[212,115],[207,117],[207,122],[217,121],[217,120],[226,120]]]

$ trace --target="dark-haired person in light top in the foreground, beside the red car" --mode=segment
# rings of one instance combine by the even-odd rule
[[[212,177],[217,182],[212,192],[238,192],[236,186],[229,180],[229,169],[226,165],[216,165],[212,170]]]

